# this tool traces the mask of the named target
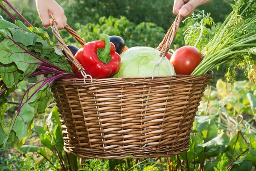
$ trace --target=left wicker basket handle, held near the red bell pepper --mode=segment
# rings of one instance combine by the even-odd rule
[[[58,41],[58,44],[62,47],[62,49],[66,53],[67,58],[72,62],[72,64],[76,67],[77,70],[84,71],[84,67],[80,64],[79,61],[76,60],[76,58],[74,57],[74,55],[72,54],[70,49],[67,47],[66,43],[61,38],[61,35],[57,28],[57,23],[55,20],[52,21],[51,28],[52,28],[53,35],[55,35],[55,37]],[[72,35],[74,38],[76,38],[76,40],[81,45],[84,45],[86,43],[73,29],[70,28],[70,26],[66,26],[65,29],[67,30],[67,32],[70,33],[70,35]]]

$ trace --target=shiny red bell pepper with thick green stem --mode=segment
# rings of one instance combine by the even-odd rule
[[[108,78],[119,71],[121,58],[108,35],[102,34],[100,39],[101,41],[84,44],[75,58],[82,64],[87,75],[93,78]],[[74,65],[72,70],[78,78],[84,78]]]

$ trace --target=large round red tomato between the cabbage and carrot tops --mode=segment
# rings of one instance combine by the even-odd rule
[[[193,46],[177,49],[170,60],[177,75],[190,75],[203,60],[201,52]]]

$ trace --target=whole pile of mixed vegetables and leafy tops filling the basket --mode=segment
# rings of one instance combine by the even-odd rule
[[[25,26],[3,5],[5,2],[28,25]],[[12,142],[20,147],[31,136],[33,119],[52,101],[51,84],[59,78],[83,78],[70,64],[65,52],[49,40],[47,32],[33,27],[8,2],[0,0],[0,8],[15,22],[0,17],[0,145]],[[211,36],[207,25],[215,26],[209,14],[193,14],[195,21],[185,32],[186,45],[168,52],[150,47],[128,47],[119,36],[102,34],[99,41],[81,48],[68,45],[75,58],[93,78],[147,77],[157,75],[201,75],[221,64],[230,64],[227,81],[234,81],[236,67],[245,69],[247,77],[256,81],[256,0],[235,0],[233,12]],[[156,64],[159,64],[155,68]],[[38,75],[44,79],[37,80]],[[23,96],[19,109],[5,123],[5,103],[20,81],[33,84]],[[40,103],[40,104],[39,104]]]

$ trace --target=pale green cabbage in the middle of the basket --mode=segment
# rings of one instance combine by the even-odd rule
[[[160,51],[151,47],[132,47],[121,54],[119,72],[113,78],[152,76],[153,67],[160,60]],[[157,75],[155,67],[154,75]],[[159,75],[175,75],[174,67],[167,58],[160,63]]]

